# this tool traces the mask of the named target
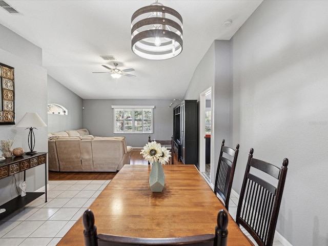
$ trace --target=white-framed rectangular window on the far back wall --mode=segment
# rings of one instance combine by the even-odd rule
[[[153,133],[155,106],[112,106],[114,133]]]

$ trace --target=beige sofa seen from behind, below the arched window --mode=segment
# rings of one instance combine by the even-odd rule
[[[49,170],[116,172],[130,164],[125,137],[95,137],[87,129],[48,133]]]

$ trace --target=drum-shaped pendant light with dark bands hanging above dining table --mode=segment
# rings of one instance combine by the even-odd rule
[[[131,48],[140,57],[165,60],[182,51],[182,17],[157,1],[132,15]]]

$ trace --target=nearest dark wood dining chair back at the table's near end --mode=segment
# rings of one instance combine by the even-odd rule
[[[127,245],[191,245],[226,246],[228,238],[228,214],[223,209],[218,212],[215,234],[202,234],[188,237],[140,238],[109,234],[97,234],[93,212],[88,209],[83,214],[83,231],[86,246],[127,246]]]

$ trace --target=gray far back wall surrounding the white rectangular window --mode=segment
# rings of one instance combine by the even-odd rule
[[[83,126],[94,136],[126,136],[127,145],[141,148],[151,139],[171,139],[173,135],[173,107],[169,108],[172,100],[83,100]],[[154,105],[153,133],[114,134],[114,110],[112,105]]]

